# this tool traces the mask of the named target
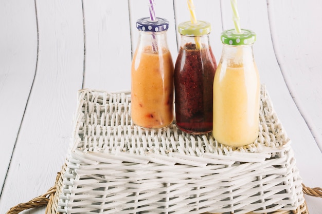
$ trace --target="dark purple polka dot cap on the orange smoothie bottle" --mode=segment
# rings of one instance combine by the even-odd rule
[[[144,17],[136,21],[136,28],[145,32],[160,32],[168,30],[169,22],[165,18],[156,17],[152,21],[149,17]]]

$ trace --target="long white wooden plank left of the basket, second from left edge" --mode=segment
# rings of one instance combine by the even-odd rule
[[[77,90],[82,85],[81,2],[41,0],[36,6],[37,75],[2,190],[2,212],[43,194],[55,182],[66,157]],[[24,18],[19,14],[15,17]],[[35,59],[28,60],[35,63]]]

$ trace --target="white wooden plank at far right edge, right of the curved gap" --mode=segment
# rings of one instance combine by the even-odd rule
[[[322,151],[320,1],[268,1],[271,34],[283,78]]]

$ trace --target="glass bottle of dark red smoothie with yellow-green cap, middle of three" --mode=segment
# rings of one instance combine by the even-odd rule
[[[182,131],[203,134],[212,130],[212,85],[217,68],[209,34],[210,23],[178,25],[181,45],[174,67],[175,119]]]

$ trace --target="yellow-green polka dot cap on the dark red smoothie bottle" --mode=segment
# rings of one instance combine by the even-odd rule
[[[197,21],[196,24],[183,22],[178,25],[178,32],[181,35],[201,36],[210,33],[211,25],[209,22]]]

